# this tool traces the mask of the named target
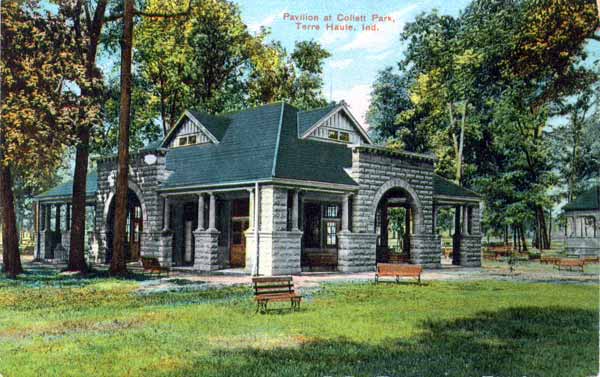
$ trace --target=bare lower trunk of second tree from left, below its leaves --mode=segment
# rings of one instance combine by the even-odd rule
[[[71,244],[69,246],[69,271],[87,272],[85,263],[85,192],[89,157],[90,130],[82,127],[75,154],[75,174],[73,177]]]

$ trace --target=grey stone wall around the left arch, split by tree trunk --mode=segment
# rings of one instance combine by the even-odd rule
[[[157,161],[149,165],[144,162],[148,154],[157,156]],[[117,175],[116,158],[98,160],[98,193],[96,196],[96,239],[98,240],[97,255],[90,255],[89,259],[103,263],[106,255],[106,232],[108,206],[114,196]],[[167,178],[165,170],[165,157],[159,152],[144,152],[131,155],[129,164],[129,188],[138,196],[143,217],[143,232],[141,241],[142,256],[154,256],[164,259],[169,256],[162,255],[161,246],[163,200],[158,195],[158,187]],[[164,243],[163,243],[164,245]],[[169,261],[170,263],[170,261]]]

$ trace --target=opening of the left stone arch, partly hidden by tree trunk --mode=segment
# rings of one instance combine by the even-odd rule
[[[113,255],[115,205],[116,200],[113,197],[106,219],[106,263],[110,263]],[[143,227],[144,220],[140,199],[133,190],[129,189],[127,191],[127,223],[125,226],[125,260],[127,262],[140,259]]]

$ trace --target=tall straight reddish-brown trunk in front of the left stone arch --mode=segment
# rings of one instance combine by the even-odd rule
[[[133,0],[125,0],[121,40],[121,111],[119,114],[119,154],[115,193],[115,231],[110,273],[127,273],[125,226],[127,223],[127,173],[129,166],[129,124],[131,122],[131,52],[133,45]]]

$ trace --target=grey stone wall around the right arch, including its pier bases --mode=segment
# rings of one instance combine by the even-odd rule
[[[433,234],[433,160],[368,148],[352,153],[352,178],[360,185],[353,197],[351,234],[340,235],[339,269],[370,271],[375,266],[375,213],[391,189],[404,189],[415,210],[411,261],[427,267],[440,264],[440,241]]]

